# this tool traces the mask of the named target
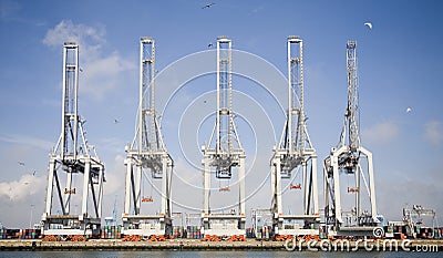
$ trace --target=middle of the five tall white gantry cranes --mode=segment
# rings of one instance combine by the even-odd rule
[[[245,151],[241,147],[233,112],[231,41],[227,37],[217,39],[217,114],[209,142],[202,147],[204,158],[204,207],[202,227],[205,235],[245,235]],[[237,168],[237,169],[236,169]],[[229,179],[238,174],[238,209],[229,214],[210,210],[210,175],[217,179]],[[219,190],[228,190],[227,187]]]

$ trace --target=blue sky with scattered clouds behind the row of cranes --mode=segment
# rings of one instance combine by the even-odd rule
[[[106,164],[104,213],[111,215],[115,198],[119,213],[122,211],[124,146],[134,136],[138,104],[140,38],[150,35],[156,40],[156,68],[164,76],[174,75],[174,71],[167,73],[165,68],[208,50],[207,45],[215,43],[218,35],[228,35],[234,49],[266,60],[286,76],[286,39],[291,34],[300,35],[305,42],[305,109],[319,159],[339,141],[347,104],[346,43],[357,40],[361,138],[374,156],[379,213],[389,219],[400,219],[405,204],[421,204],[435,208],[439,220],[443,221],[443,116],[440,113],[443,110],[440,78],[443,6],[440,1],[214,2],[210,8],[202,9],[208,2],[0,0],[0,206],[4,210],[0,223],[28,226],[43,211],[48,154],[61,131],[64,41],[74,39],[80,45],[80,66],[84,72],[80,75],[79,109],[87,120],[86,137]],[[368,21],[372,22],[372,30],[364,25]],[[210,51],[207,54],[215,56]],[[198,66],[197,63],[188,65]],[[254,71],[256,64],[249,65]],[[260,124],[268,123],[266,115],[254,121],[249,113],[256,107],[241,102],[241,94],[235,96],[234,109],[236,103],[243,103],[237,109],[249,117],[238,121],[245,148],[253,153],[248,162],[265,161],[258,162],[251,172],[259,174],[260,179],[250,179],[248,192],[259,190],[257,197],[248,200],[247,209],[267,207],[262,198],[269,199],[270,205],[268,161],[272,141],[280,136],[284,117],[276,103],[250,80],[237,76],[233,85],[268,111],[269,132],[275,131],[269,136],[269,132],[258,130]],[[174,87],[173,83],[169,86]],[[276,83],[270,87],[285,91],[285,86]],[[200,174],[185,161],[175,141],[178,127],[195,134],[193,126],[200,121],[195,120],[188,127],[186,123],[174,124],[181,117],[174,112],[195,100],[208,100],[210,104],[210,93],[204,94],[213,90],[214,74],[193,80],[177,93],[175,105],[162,118],[177,175],[187,176],[193,184],[200,184]],[[253,102],[250,106],[255,105]],[[286,106],[285,102],[280,104]],[[408,113],[408,107],[412,112]],[[193,124],[194,116],[186,117]],[[114,124],[115,118],[120,123]],[[204,128],[210,127],[208,121]],[[247,121],[253,125],[248,126]],[[257,143],[251,128],[257,131]],[[186,156],[193,163],[199,163],[198,145],[209,138],[205,132],[195,142],[184,141],[190,146]],[[18,164],[19,161],[25,165]],[[178,184],[179,179],[175,182]],[[265,183],[260,188],[261,182]],[[174,189],[177,196],[187,190],[186,185]],[[195,189],[195,202],[181,202],[198,207],[200,190]]]

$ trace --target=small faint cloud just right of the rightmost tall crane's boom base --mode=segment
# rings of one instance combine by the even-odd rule
[[[389,143],[399,135],[399,126],[392,122],[375,124],[361,132],[362,141],[370,143]]]

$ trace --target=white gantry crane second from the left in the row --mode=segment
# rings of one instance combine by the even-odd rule
[[[140,42],[140,106],[137,130],[126,146],[126,185],[123,213],[124,235],[171,235],[171,182],[173,159],[166,151],[155,111],[155,42]],[[151,179],[150,179],[151,178]],[[142,205],[155,204],[152,196],[142,196],[144,183],[155,188],[161,180],[161,208],[156,214],[142,214]]]

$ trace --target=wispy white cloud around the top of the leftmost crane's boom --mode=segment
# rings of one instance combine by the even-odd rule
[[[132,61],[122,58],[117,52],[104,53],[106,43],[103,27],[74,24],[63,20],[55,28],[49,30],[43,44],[52,48],[62,48],[64,42],[79,44],[80,92],[95,99],[104,99],[107,92],[125,85],[125,72],[135,70]]]

